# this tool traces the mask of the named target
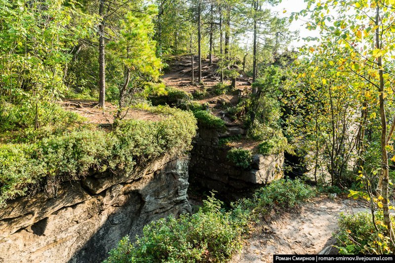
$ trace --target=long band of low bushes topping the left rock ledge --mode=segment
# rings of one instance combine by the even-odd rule
[[[53,193],[60,182],[78,180],[89,171],[128,172],[136,163],[190,149],[196,134],[192,113],[168,107],[146,110],[165,118],[123,120],[109,133],[80,127],[39,142],[0,145],[0,206],[43,187]]]

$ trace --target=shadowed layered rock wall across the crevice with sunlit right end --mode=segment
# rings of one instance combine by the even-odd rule
[[[227,159],[230,150],[219,147],[220,137],[237,133],[220,134],[213,129],[199,127],[198,135],[191,151],[189,167],[190,181],[202,188],[237,196],[238,191],[267,184],[283,175],[284,153],[253,155],[250,170],[237,167]]]

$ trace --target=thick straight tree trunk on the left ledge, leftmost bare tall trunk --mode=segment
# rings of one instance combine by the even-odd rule
[[[99,25],[99,106],[105,109],[106,99],[106,66],[104,61],[104,0],[100,0],[99,15],[101,18]]]

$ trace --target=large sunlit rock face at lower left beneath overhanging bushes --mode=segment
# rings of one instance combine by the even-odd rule
[[[22,197],[0,209],[0,262],[100,262],[125,235],[189,212],[189,158],[163,157],[131,174],[65,183],[56,198]]]

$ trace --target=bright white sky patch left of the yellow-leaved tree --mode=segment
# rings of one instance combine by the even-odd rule
[[[299,12],[302,9],[304,9],[306,7],[306,3],[304,2],[304,0],[282,0],[282,2],[276,6],[271,6],[268,4],[266,7],[271,9],[274,12],[277,12],[279,17],[289,17],[292,12]],[[283,10],[286,10],[286,12],[283,13]],[[290,25],[290,30],[291,31],[298,30],[300,40],[299,41],[297,41],[297,40],[292,41],[290,44],[290,47],[291,47],[290,49],[292,49],[292,47],[300,47],[300,46],[306,44],[307,42],[304,41],[302,38],[318,37],[319,36],[318,31],[310,31],[310,30],[306,29],[304,24],[305,24],[305,21],[302,21],[300,18],[297,21],[295,21],[295,20],[292,21],[292,23]]]

